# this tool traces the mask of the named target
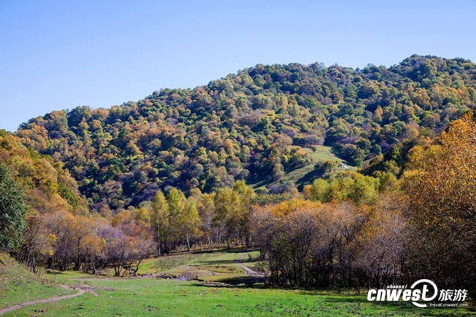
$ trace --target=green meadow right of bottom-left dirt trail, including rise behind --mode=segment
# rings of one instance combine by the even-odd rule
[[[230,275],[244,277],[236,259],[240,250],[203,254],[183,254],[148,259],[144,270],[183,271],[209,269],[214,279]],[[253,258],[257,251],[245,251]],[[230,273],[228,270],[232,270]],[[418,308],[409,303],[366,301],[354,293],[330,290],[285,289],[261,284],[222,286],[197,280],[160,278],[92,277],[88,274],[51,274],[50,279],[64,284],[96,287],[99,296],[82,296],[49,304],[23,307],[5,316],[466,316],[476,315],[464,308]],[[218,285],[218,286],[217,286]],[[106,290],[107,289],[107,290]]]

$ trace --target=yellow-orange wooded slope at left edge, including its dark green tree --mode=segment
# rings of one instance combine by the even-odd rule
[[[21,239],[25,217],[54,210],[87,213],[86,199],[61,162],[41,155],[0,130],[0,246],[14,247]]]

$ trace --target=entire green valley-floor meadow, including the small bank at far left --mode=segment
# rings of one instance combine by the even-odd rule
[[[353,291],[273,288],[251,284],[237,263],[240,250],[165,256],[145,260],[139,274],[115,278],[78,272],[26,271],[2,257],[1,305],[74,293],[54,285],[83,285],[94,292],[53,303],[35,304],[5,316],[466,316],[471,308],[417,308],[409,303],[369,303]],[[257,251],[245,251],[257,258]],[[5,271],[8,264],[10,270]],[[161,277],[159,277],[161,276]],[[470,303],[471,305],[471,303]]]

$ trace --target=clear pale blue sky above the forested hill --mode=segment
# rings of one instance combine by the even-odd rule
[[[257,63],[476,61],[474,1],[0,0],[0,128]]]

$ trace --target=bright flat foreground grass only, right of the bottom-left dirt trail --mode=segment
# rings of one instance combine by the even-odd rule
[[[417,308],[408,303],[366,302],[363,296],[330,291],[256,287],[210,287],[161,279],[85,279],[89,293],[51,304],[32,305],[6,316],[462,316],[463,309]],[[471,313],[474,314],[474,313]]]

